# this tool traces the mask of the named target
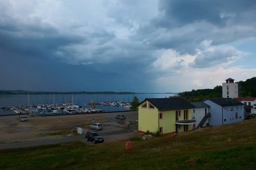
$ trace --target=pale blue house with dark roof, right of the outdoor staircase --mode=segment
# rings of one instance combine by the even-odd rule
[[[203,101],[210,106],[209,126],[240,122],[244,119],[244,104],[231,98],[212,98]]]

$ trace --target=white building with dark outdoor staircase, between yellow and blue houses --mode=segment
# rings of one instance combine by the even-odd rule
[[[191,104],[195,106],[195,108],[192,108],[192,119],[196,120],[194,128],[198,127],[200,123],[200,127],[209,125],[209,119],[203,120],[203,118],[207,116],[210,106],[204,102],[191,102]],[[201,122],[202,120],[205,122]]]

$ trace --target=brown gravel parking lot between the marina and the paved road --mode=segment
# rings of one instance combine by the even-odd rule
[[[28,122],[18,121],[17,116],[1,116],[0,117],[0,144],[12,142],[32,142],[44,140],[60,140],[67,141],[67,135],[73,130],[73,134],[79,137],[76,132],[77,127],[82,127],[84,133],[89,129],[88,126],[94,122],[107,123],[104,125],[104,130],[100,130],[103,136],[115,135],[119,133],[127,133],[127,125],[121,121],[115,120],[114,117],[120,113],[96,113],[96,114],[81,114],[67,116],[46,116],[46,117],[29,117]],[[132,121],[132,128],[136,127],[137,112],[125,112],[128,121]],[[112,125],[113,123],[113,125]],[[70,137],[69,137],[70,138]]]

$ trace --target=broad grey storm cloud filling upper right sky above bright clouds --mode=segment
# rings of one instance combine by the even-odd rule
[[[221,45],[256,37],[255,0],[160,0],[159,11],[136,37],[153,49],[194,55],[205,50],[204,40]]]

